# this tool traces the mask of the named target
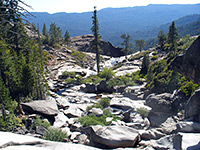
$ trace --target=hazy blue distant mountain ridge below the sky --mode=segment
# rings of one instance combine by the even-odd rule
[[[49,28],[50,23],[55,22],[63,34],[67,29],[71,37],[91,34],[93,12],[55,14],[33,12],[32,14],[36,18],[31,18],[29,21],[39,23],[40,30],[44,23]],[[192,14],[200,14],[200,4],[151,4],[126,8],[105,8],[98,11],[98,20],[102,39],[119,45],[120,35],[123,33],[130,34],[152,29]]]

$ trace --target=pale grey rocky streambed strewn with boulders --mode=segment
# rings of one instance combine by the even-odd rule
[[[67,59],[69,52],[66,50],[53,53],[54,59],[48,66],[47,76],[50,96],[46,100],[22,103],[27,124],[16,129],[15,133],[18,134],[0,132],[0,148],[200,149],[200,124],[189,119],[184,120],[184,116],[177,113],[182,98],[179,91],[174,91],[173,94],[149,93],[144,82],[137,86],[118,88],[113,94],[88,92],[86,85],[68,85],[59,79],[59,76],[63,71],[75,71],[89,76],[95,74],[95,70],[91,67],[82,68],[71,59]],[[112,65],[114,61],[111,59],[106,58],[102,66],[108,65],[109,62]],[[117,61],[121,65],[114,70],[116,75],[135,72],[141,66],[141,60]],[[119,119],[107,117],[106,121],[110,122],[108,126],[82,126],[78,121],[79,117],[89,113],[97,117],[103,115],[103,111],[98,108],[86,110],[101,98],[110,99],[109,106],[104,109]],[[35,130],[30,130],[36,114],[48,119],[52,128],[67,132],[66,142],[51,142],[37,138],[42,137],[46,129],[38,126]]]

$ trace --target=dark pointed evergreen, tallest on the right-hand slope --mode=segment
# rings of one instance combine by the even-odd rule
[[[178,39],[178,32],[175,26],[174,21],[172,24],[169,26],[169,31],[168,31],[168,43],[169,44],[175,44]]]

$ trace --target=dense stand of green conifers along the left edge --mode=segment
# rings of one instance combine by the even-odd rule
[[[31,39],[26,33],[20,17],[24,9],[18,1],[1,2],[0,8],[0,130],[13,131],[21,124],[14,115],[14,111],[22,113],[19,104],[45,97],[46,60],[40,39]]]

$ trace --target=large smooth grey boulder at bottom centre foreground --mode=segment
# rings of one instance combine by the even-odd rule
[[[139,141],[137,130],[126,126],[104,126],[85,129],[91,142],[101,148],[134,147]]]

